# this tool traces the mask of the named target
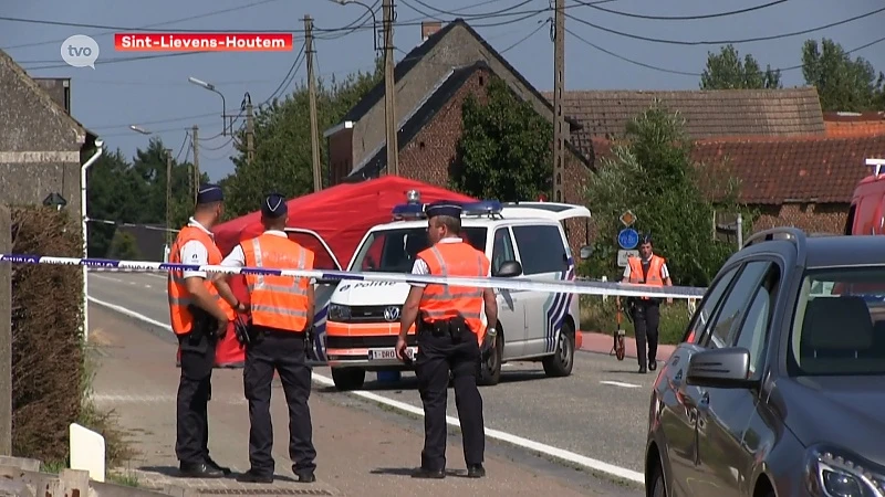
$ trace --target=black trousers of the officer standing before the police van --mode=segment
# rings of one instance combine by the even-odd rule
[[[435,337],[429,330],[418,332],[415,374],[424,404],[424,450],[421,467],[446,468],[446,406],[449,371],[455,378],[455,404],[461,423],[464,458],[468,465],[482,464],[486,434],[482,422],[482,396],[477,388],[479,343],[476,336],[455,343],[451,337]]]

